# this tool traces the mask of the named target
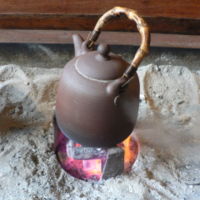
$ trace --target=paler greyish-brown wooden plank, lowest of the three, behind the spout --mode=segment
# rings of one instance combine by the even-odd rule
[[[0,30],[0,43],[47,43],[47,44],[71,44],[71,36],[78,33],[84,38],[88,31],[65,31],[65,30]],[[200,48],[200,36],[177,35],[177,34],[151,34],[152,47],[171,48]],[[138,33],[130,32],[102,32],[99,41],[112,45],[140,44]]]

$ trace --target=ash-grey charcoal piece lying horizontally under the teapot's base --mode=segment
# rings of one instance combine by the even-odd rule
[[[94,147],[76,147],[75,143],[70,141],[67,144],[67,154],[75,160],[89,160],[106,157],[106,149]]]

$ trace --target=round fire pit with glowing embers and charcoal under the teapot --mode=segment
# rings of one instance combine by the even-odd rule
[[[129,136],[120,144],[109,148],[86,147],[70,140],[53,120],[55,152],[62,168],[81,180],[99,181],[129,172],[135,162],[139,144]]]

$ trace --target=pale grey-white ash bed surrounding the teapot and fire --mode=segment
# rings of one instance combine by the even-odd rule
[[[61,71],[0,68],[0,200],[199,199],[200,71],[141,67],[140,155],[129,174],[100,183],[71,177],[53,152]]]

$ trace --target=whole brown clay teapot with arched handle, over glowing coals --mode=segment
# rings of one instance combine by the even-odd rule
[[[115,16],[126,15],[137,24],[141,45],[131,62],[100,44],[94,50],[103,25]],[[73,35],[75,57],[59,82],[56,120],[71,140],[91,147],[110,147],[134,129],[139,107],[137,67],[148,53],[150,35],[145,21],[128,8],[114,7],[100,17],[93,32],[83,41]]]

